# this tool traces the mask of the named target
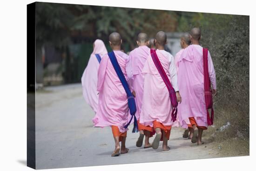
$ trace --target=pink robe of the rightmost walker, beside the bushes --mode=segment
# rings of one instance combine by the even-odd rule
[[[202,46],[190,45],[181,54],[178,61],[178,86],[182,97],[179,104],[178,118],[182,127],[189,117],[194,117],[197,125],[208,126],[204,99]],[[212,88],[216,89],[216,75],[213,62],[208,52],[209,77]]]

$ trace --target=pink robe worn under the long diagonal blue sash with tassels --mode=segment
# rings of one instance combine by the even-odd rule
[[[128,55],[121,51],[114,51],[114,53],[127,79],[126,63]],[[108,54],[101,59],[97,90],[99,91],[99,104],[93,118],[94,126],[115,125],[120,132],[126,132],[128,129],[123,127],[128,123],[128,99]]]

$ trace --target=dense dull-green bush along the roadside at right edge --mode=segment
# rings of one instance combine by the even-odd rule
[[[233,123],[233,129],[249,138],[248,16],[232,17],[229,22],[229,31],[223,37],[222,43],[216,45],[213,54],[216,57],[216,73],[220,89],[216,105],[220,109],[231,111],[229,120]]]

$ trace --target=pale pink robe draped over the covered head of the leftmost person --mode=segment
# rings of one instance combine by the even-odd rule
[[[96,39],[94,41],[94,51],[90,56],[88,65],[85,68],[81,78],[83,97],[95,113],[97,112],[99,99],[97,92],[97,73],[100,66],[95,54],[99,54],[102,58],[102,56],[106,53],[108,53],[108,51],[104,45],[104,42],[100,39]]]

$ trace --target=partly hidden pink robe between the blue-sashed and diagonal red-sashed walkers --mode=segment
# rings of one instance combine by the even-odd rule
[[[149,54],[150,49],[147,46],[137,47],[130,52],[126,67],[130,89],[132,91],[134,90],[136,93],[135,102],[137,111],[135,116],[137,120],[140,119],[144,83],[144,78],[141,71],[146,60],[148,59]]]

